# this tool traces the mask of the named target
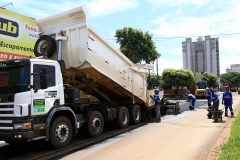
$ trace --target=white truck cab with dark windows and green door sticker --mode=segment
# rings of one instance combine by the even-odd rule
[[[65,103],[63,83],[57,61],[7,60],[0,63],[0,69],[0,137],[3,140],[49,139],[49,126],[57,110],[65,110],[66,114],[62,115],[70,115],[69,120],[75,124],[73,111],[62,106]],[[67,132],[63,125],[61,131],[64,130]]]

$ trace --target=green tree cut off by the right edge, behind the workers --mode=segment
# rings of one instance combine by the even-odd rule
[[[239,85],[240,84],[240,73],[238,72],[229,72],[220,75],[220,81],[222,83],[230,83],[230,85]]]

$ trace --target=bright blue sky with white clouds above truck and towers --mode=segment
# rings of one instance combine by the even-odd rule
[[[239,0],[0,0],[0,7],[10,2],[6,9],[35,19],[85,4],[91,26],[116,48],[117,29],[148,31],[162,55],[159,74],[166,68],[181,69],[182,42],[198,36],[219,38],[221,74],[230,64],[240,64]]]

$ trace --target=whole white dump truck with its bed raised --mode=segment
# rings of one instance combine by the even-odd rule
[[[89,24],[85,6],[37,20],[35,58],[0,62],[0,140],[45,139],[66,146],[85,128],[93,137],[154,116],[151,65],[135,65]],[[79,90],[100,103],[81,104]]]

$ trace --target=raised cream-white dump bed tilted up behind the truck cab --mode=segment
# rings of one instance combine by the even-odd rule
[[[66,64],[66,84],[104,101],[146,102],[145,73],[89,24],[85,6],[37,20],[37,24],[44,35],[62,40],[62,47],[57,47]],[[58,56],[55,51],[52,59]]]

